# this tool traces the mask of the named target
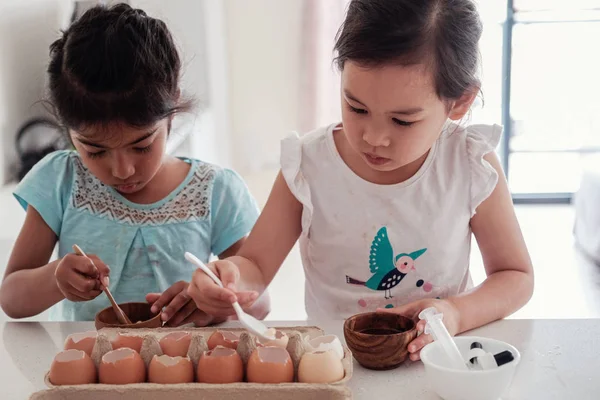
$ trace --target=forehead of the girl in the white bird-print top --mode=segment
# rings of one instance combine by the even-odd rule
[[[383,108],[427,108],[441,100],[435,91],[430,68],[423,64],[386,64],[370,67],[347,62],[342,72],[342,90],[368,106]]]

